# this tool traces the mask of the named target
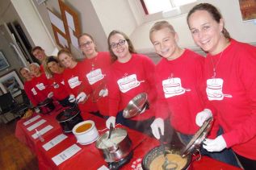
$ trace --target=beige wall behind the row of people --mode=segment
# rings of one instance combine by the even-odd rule
[[[12,1],[18,3],[18,0]],[[36,9],[39,11],[40,17],[44,21],[52,39],[54,39],[46,8],[48,7],[56,13],[61,14],[57,0],[48,0],[45,5],[40,6],[37,5],[36,0],[31,1],[36,4]],[[107,50],[107,35],[113,29],[118,29],[127,33],[132,39],[137,50],[141,52],[153,50],[152,44],[149,41],[149,28],[154,22],[143,23],[141,26],[137,26],[136,21],[138,19],[132,15],[132,10],[128,5],[129,3],[132,3],[131,0],[63,1],[73,7],[74,10],[78,11],[81,19],[82,32],[88,32],[94,36],[100,51]],[[233,38],[246,43],[256,42],[255,24],[252,22],[242,22],[239,3],[237,0],[201,0],[198,2],[210,2],[220,9],[225,19],[225,26]],[[19,8],[20,6],[17,7]],[[25,12],[24,10],[20,11]],[[176,31],[178,31],[179,44],[182,47],[195,47],[195,44],[191,39],[191,33],[187,27],[186,17],[187,14],[178,15],[172,19],[166,20],[170,21],[170,23],[174,25]],[[32,25],[31,30],[34,30],[33,34],[30,33],[31,36],[33,36],[33,42],[36,42],[36,44],[39,43],[40,39],[42,39],[42,35],[38,34],[38,31],[32,27]],[[36,35],[36,33],[38,35]],[[46,44],[45,42],[40,43],[43,47],[46,46],[44,45]]]

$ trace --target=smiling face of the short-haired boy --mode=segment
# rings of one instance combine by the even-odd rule
[[[167,60],[178,58],[179,49],[177,44],[178,35],[168,27],[153,31],[150,35],[151,42],[158,55]]]

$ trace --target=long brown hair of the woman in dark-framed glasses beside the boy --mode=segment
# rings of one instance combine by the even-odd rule
[[[124,39],[128,43],[128,50],[129,50],[130,53],[136,53],[136,50],[133,47],[132,41],[131,41],[131,39],[129,39],[128,35],[124,34],[124,32],[122,32],[122,31],[113,30],[113,31],[111,31],[111,33],[108,35],[108,38],[107,38],[108,51],[111,54],[112,61],[117,60],[117,56],[115,56],[114,52],[112,51],[112,48],[111,48],[111,45],[110,45],[110,38],[111,38],[111,36],[116,35],[116,34],[120,34],[120,35],[124,36]]]

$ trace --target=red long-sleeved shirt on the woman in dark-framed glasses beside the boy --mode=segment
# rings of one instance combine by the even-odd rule
[[[132,54],[132,58],[126,63],[116,60],[111,64],[110,73],[107,75],[110,116],[116,116],[120,110],[124,110],[128,102],[139,93],[148,94],[149,110],[132,119],[145,120],[154,116],[157,96],[154,70],[153,61],[141,54]]]

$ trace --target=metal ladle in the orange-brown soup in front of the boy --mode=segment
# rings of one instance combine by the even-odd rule
[[[164,135],[161,134],[161,130],[160,130],[159,127],[158,127],[158,131],[159,131],[159,135],[160,135],[159,141],[160,141],[160,144],[161,144],[162,153],[165,157],[164,164],[162,164],[162,169],[163,170],[175,170],[176,168],[178,168],[178,164],[176,164],[174,162],[171,162],[167,159],[166,147],[165,147],[165,144],[164,144]]]

